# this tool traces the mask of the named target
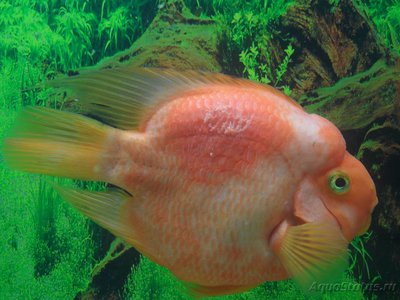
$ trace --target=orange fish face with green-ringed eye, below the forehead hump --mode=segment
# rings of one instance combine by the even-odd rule
[[[297,223],[331,223],[347,241],[364,234],[378,203],[375,184],[364,165],[348,152],[342,162],[308,177],[294,200]]]

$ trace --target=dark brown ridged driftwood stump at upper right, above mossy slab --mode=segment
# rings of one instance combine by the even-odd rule
[[[269,43],[271,68],[281,62],[288,43],[295,53],[285,83],[294,98],[366,71],[387,52],[372,22],[351,0],[337,7],[328,0],[298,0],[290,6]]]

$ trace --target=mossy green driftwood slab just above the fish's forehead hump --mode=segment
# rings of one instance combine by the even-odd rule
[[[400,68],[379,60],[365,72],[313,90],[298,102],[342,131],[365,129],[376,120],[396,114],[399,86]]]

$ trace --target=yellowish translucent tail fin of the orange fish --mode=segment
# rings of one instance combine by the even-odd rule
[[[102,180],[96,170],[110,129],[70,112],[25,108],[5,139],[5,161],[31,173]]]

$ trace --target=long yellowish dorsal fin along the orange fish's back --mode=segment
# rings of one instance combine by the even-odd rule
[[[127,130],[137,129],[149,109],[180,92],[210,84],[261,87],[280,93],[270,86],[219,73],[156,68],[83,70],[79,75],[48,82],[49,86],[70,89],[82,113]]]

